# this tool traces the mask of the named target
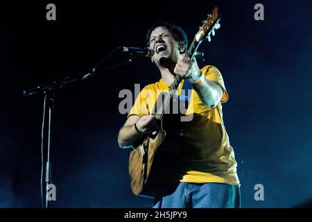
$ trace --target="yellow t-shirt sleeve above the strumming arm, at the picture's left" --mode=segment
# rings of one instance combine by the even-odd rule
[[[144,115],[150,114],[149,107],[148,107],[148,95],[149,90],[144,87],[139,95],[137,96],[137,99],[135,99],[135,104],[132,106],[128,117],[132,115],[137,115],[139,117],[142,117]]]

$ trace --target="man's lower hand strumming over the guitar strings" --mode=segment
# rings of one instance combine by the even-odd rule
[[[137,123],[137,129],[141,133],[156,135],[158,132],[158,120],[153,115],[146,115],[141,117]]]

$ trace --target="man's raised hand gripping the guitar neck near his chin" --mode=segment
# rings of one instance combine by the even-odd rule
[[[174,73],[181,78],[187,78],[189,80],[196,80],[200,77],[201,71],[197,65],[196,60],[189,60],[187,54],[182,53],[179,55],[177,65],[175,65]]]

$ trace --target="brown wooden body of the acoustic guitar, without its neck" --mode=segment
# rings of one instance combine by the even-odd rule
[[[133,194],[156,197],[174,189],[171,171],[174,159],[171,152],[162,146],[165,137],[166,132],[161,128],[155,138],[146,137],[130,152],[129,176]]]

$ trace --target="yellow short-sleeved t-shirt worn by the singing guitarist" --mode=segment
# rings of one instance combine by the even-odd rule
[[[186,116],[183,121],[183,148],[179,155],[181,182],[220,182],[239,186],[234,151],[223,124],[222,105],[227,101],[227,91],[220,71],[211,65],[202,68],[205,78],[218,83],[223,96],[215,108],[207,108],[194,89],[191,92]],[[183,84],[182,80],[182,84]],[[180,94],[180,84],[177,94]],[[168,92],[170,85],[159,82],[147,85],[139,93],[128,117],[152,114],[155,101],[162,92]]]

